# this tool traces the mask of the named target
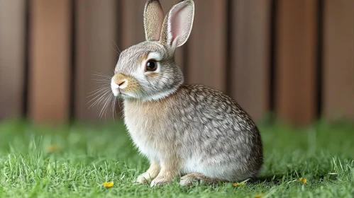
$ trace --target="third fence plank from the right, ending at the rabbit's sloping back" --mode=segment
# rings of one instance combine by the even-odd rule
[[[255,120],[269,110],[270,0],[232,1],[231,96]]]

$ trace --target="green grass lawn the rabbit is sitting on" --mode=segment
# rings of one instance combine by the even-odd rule
[[[260,131],[265,164],[258,180],[239,187],[179,187],[175,181],[150,188],[133,183],[148,162],[121,122],[72,127],[1,122],[0,197],[353,197],[353,124],[261,124]],[[48,153],[50,145],[60,149]],[[113,187],[103,186],[110,181]]]

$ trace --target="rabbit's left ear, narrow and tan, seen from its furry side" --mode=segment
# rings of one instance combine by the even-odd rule
[[[148,41],[160,40],[164,13],[158,0],[148,0],[144,9],[145,38]]]

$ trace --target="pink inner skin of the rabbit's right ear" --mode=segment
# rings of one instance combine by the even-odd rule
[[[184,32],[186,31],[185,28],[188,28],[188,23],[191,20],[190,14],[188,12],[188,9],[185,9],[187,5],[180,6],[179,8],[175,8],[173,11],[171,11],[171,40],[170,40],[170,45],[178,38],[184,35]]]

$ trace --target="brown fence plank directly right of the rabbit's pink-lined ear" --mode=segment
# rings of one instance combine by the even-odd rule
[[[194,1],[194,27],[188,41],[187,82],[226,91],[227,1]]]

